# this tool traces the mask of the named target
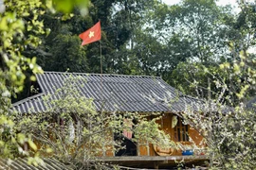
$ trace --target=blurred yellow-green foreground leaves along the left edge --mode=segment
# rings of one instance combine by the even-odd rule
[[[72,6],[76,3],[69,2]],[[45,13],[50,4],[51,1],[10,0],[2,5],[5,11],[0,14],[0,155],[4,158],[27,155],[21,147],[25,143],[36,150],[30,135],[20,133],[14,126],[15,114],[9,110],[10,97],[24,89],[26,73],[31,73],[28,78],[35,80],[33,74],[43,72],[36,58],[27,58],[24,52],[41,43],[39,36],[45,34],[46,30],[38,17]],[[35,162],[33,159],[31,161]]]

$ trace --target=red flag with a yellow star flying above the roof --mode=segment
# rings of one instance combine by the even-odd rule
[[[82,45],[101,40],[101,23],[98,22],[88,30],[82,32],[79,37],[82,39]]]

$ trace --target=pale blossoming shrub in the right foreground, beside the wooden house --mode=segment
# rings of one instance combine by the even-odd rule
[[[189,110],[184,113],[186,121],[206,138],[212,169],[255,167],[255,112],[253,108],[247,108],[245,102],[248,94],[255,91],[255,69],[251,65],[254,62],[255,59],[250,59],[242,51],[239,60],[221,64],[217,73],[228,75],[210,77],[214,78],[212,86],[215,91],[220,89],[218,91],[222,93],[206,101],[205,107],[209,111],[194,113]],[[229,80],[223,81],[227,77]],[[233,88],[234,84],[240,88]]]

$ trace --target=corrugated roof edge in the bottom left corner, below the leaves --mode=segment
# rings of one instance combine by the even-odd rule
[[[0,159],[0,170],[72,170],[68,165],[65,165],[61,161],[56,159],[43,159],[42,163],[37,166],[27,163],[27,159],[17,158],[15,160]]]

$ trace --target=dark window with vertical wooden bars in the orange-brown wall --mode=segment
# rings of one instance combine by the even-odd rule
[[[189,142],[189,126],[182,123],[182,119],[177,117],[177,124],[174,127],[174,138],[178,142]]]

